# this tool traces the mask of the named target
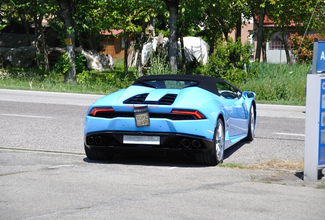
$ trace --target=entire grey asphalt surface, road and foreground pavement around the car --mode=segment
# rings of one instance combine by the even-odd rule
[[[301,172],[88,160],[83,119],[99,97],[0,90],[0,219],[325,219],[325,190]],[[305,107],[257,111],[256,138],[224,162],[303,159]]]

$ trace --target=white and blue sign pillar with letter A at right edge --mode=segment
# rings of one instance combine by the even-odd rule
[[[306,93],[304,180],[317,181],[325,168],[325,41],[314,41]]]

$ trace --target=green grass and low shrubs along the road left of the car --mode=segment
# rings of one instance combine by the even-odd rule
[[[64,83],[64,75],[54,70],[44,74],[38,69],[0,69],[0,88],[106,95],[128,87],[135,79],[132,75],[126,77],[121,69],[117,69],[84,71],[76,75],[77,81],[73,83]]]

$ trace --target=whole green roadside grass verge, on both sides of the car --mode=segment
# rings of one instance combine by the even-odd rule
[[[254,66],[250,69],[254,69],[256,74],[238,82],[236,86],[242,91],[256,92],[257,103],[306,105],[307,73],[310,65],[250,65]],[[189,70],[189,73],[204,74],[204,68],[197,66]],[[36,68],[0,69],[0,88],[106,95],[130,86],[137,78],[137,69],[131,68],[125,73],[123,60],[118,60],[114,63],[114,70],[85,70],[76,75],[77,81],[72,84],[64,83],[63,78],[63,74],[55,69],[46,74]]]

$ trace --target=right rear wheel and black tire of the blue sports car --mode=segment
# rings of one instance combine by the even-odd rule
[[[224,156],[224,136],[225,131],[223,121],[218,119],[212,141],[213,146],[211,147],[210,152],[195,155],[197,162],[207,166],[216,166],[218,163],[222,163]]]

